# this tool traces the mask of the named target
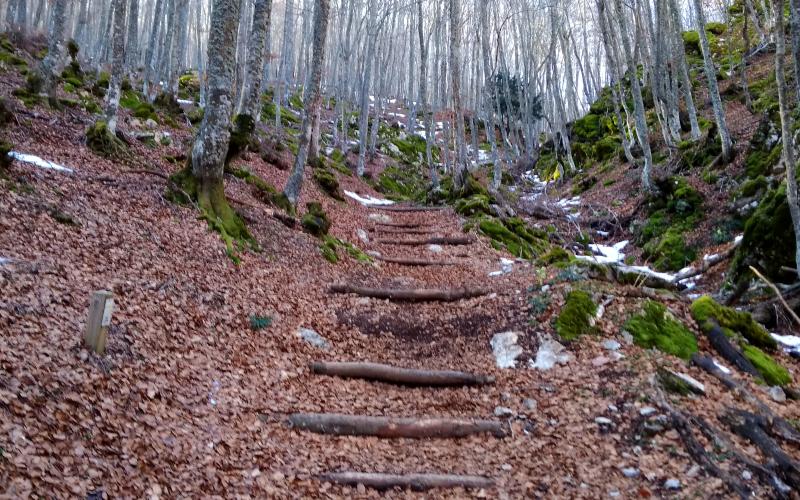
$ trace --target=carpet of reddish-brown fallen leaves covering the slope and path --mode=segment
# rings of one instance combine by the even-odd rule
[[[0,95],[8,97],[20,84],[18,77],[3,75]],[[441,249],[375,241],[376,221],[389,219],[461,235],[463,221],[451,210],[399,213],[350,198],[335,201],[307,172],[300,206],[322,203],[333,236],[384,257],[458,261],[424,268],[345,256],[331,264],[318,239],[286,227],[250,186],[226,178],[234,207],[261,246],[260,252],[242,252],[241,263],[234,265],[219,236],[192,208],[165,199],[163,179],[126,172],[176,171],[165,157],[188,150],[191,130],[170,129],[170,146],[134,144],[132,160],[121,163],[86,148],[90,115],[16,109],[7,130],[15,151],[74,172],[15,162],[0,180],[0,495],[729,494],[664,424],[664,410],[654,399],[656,367],[671,367],[705,385],[705,396],[674,398],[672,404],[683,411],[716,422],[726,407],[742,403],[699,368],[625,341],[620,325],[643,301],[639,287],[593,283],[605,299],[599,334],[568,344],[571,359],[565,364],[533,369],[528,362],[552,333],[550,320],[570,287],[557,279],[558,269],[512,259],[510,272],[490,276],[509,255],[483,238]],[[131,117],[122,113],[125,130]],[[245,154],[239,164],[275,186],[288,176],[254,154]],[[381,197],[354,177],[339,181],[343,189]],[[359,230],[367,232],[369,243]],[[329,293],[339,282],[485,287],[491,293],[451,303],[397,303]],[[547,283],[553,303],[539,314],[531,291]],[[100,289],[112,291],[115,300],[104,357],[89,352],[82,340],[90,294]],[[667,295],[664,302],[693,324],[685,299]],[[254,329],[254,317],[272,323]],[[301,328],[324,337],[327,347],[305,341]],[[518,332],[523,348],[514,369],[499,369],[490,345],[495,334],[506,331]],[[610,350],[612,339],[619,347]],[[710,352],[705,338],[700,346]],[[780,359],[800,374],[796,360]],[[471,388],[398,387],[312,374],[309,363],[321,360],[464,370],[496,381]],[[797,404],[772,401],[750,379],[742,383],[776,414],[800,419]],[[290,428],[286,417],[295,412],[480,418],[503,421],[511,433],[458,440],[332,437]],[[758,459],[754,447],[731,439]],[[798,449],[791,453],[796,457]],[[733,461],[720,460],[719,466],[742,474]],[[495,486],[423,495],[379,493],[317,478],[337,471],[473,474],[492,478]],[[755,481],[745,482],[757,495],[765,494]]]

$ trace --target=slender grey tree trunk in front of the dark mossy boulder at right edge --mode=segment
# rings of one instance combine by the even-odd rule
[[[783,162],[786,164],[786,196],[792,216],[795,238],[795,269],[800,277],[800,205],[797,199],[797,164],[795,163],[794,138],[792,136],[792,109],[786,89],[786,37],[783,28],[784,0],[775,0],[775,79],[778,85],[778,105],[781,114],[781,138],[783,139]]]

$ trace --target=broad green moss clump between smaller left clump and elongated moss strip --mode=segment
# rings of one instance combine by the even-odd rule
[[[646,349],[657,348],[682,359],[697,352],[694,334],[658,302],[645,302],[642,314],[630,318],[623,329]]]

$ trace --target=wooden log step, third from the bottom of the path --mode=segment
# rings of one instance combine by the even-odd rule
[[[463,386],[494,383],[494,377],[451,370],[413,370],[379,363],[311,363],[311,371],[320,375],[362,378],[391,384],[414,386]]]

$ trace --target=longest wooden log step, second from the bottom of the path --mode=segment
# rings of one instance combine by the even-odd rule
[[[502,438],[508,431],[501,422],[450,418],[391,418],[339,413],[295,413],[289,424],[300,430],[333,436],[375,436],[395,439],[462,438],[491,434]]]

